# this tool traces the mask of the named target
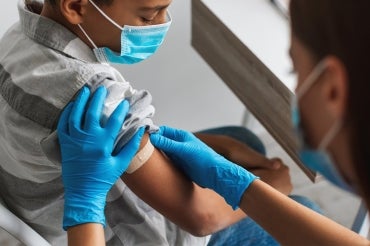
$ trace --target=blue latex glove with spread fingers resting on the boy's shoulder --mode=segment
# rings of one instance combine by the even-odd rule
[[[129,105],[127,101],[120,103],[103,127],[100,119],[106,94],[105,87],[99,87],[85,109],[90,91],[82,88],[76,101],[65,108],[58,123],[65,230],[84,223],[105,225],[107,193],[129,166],[144,134],[144,128],[140,129],[124,148],[112,155]]]

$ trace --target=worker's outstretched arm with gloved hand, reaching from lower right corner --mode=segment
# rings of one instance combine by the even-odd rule
[[[176,159],[176,165],[194,182],[216,191],[231,206],[240,206],[283,245],[369,245],[356,233],[294,202],[217,155],[191,133],[162,127],[151,140]]]

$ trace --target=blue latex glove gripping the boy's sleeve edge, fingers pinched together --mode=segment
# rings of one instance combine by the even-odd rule
[[[150,136],[150,141],[191,180],[216,191],[233,209],[238,208],[243,193],[257,178],[217,154],[190,132],[162,126]]]

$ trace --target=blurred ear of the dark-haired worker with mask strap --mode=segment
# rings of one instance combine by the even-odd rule
[[[328,112],[335,119],[346,117],[348,100],[348,73],[343,62],[335,57],[329,56],[325,59],[326,70],[323,83],[324,102]]]

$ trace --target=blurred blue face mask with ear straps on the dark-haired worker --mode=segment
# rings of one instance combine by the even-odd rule
[[[332,161],[330,154],[327,151],[328,145],[333,141],[334,137],[339,133],[342,127],[342,122],[336,122],[323,137],[318,148],[313,148],[307,143],[307,138],[304,136],[302,129],[299,100],[312,88],[313,84],[319,79],[319,76],[325,71],[325,62],[320,62],[307,79],[302,83],[302,86],[296,91],[292,100],[292,122],[299,141],[299,156],[304,165],[313,171],[321,173],[325,178],[336,186],[350,192],[354,192],[351,187],[339,173],[335,164]]]

